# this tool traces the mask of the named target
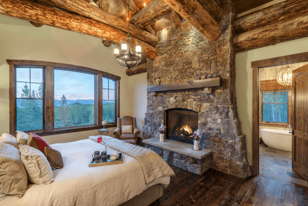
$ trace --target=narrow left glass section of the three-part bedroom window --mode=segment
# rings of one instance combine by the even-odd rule
[[[43,68],[16,68],[16,130],[43,130]]]

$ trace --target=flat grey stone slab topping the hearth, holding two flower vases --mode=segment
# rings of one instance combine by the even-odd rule
[[[182,155],[187,155],[190,157],[194,157],[197,159],[203,159],[206,156],[209,156],[212,154],[211,150],[201,149],[200,150],[194,150],[193,145],[183,143],[183,142],[177,142],[170,139],[165,139],[164,142],[160,142],[159,138],[150,138],[150,139],[144,139],[142,140],[143,143],[149,144],[152,146],[157,146],[166,150],[170,150],[173,152],[180,153]]]

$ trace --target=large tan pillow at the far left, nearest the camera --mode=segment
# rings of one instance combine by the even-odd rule
[[[0,189],[4,194],[21,198],[27,188],[28,178],[18,149],[0,144]]]

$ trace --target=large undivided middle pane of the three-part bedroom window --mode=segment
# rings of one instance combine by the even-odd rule
[[[54,70],[55,128],[95,123],[95,75]]]

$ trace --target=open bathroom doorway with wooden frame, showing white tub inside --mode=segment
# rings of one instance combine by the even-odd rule
[[[292,169],[292,86],[276,78],[288,65],[296,69],[306,64],[308,52],[252,62],[253,175],[307,186]]]

